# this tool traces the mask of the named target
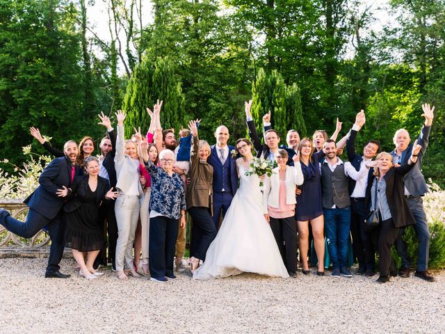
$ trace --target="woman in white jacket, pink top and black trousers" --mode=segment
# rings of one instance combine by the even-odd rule
[[[293,156],[295,166],[287,166],[286,150],[278,150],[275,155],[278,167],[264,179],[264,216],[270,223],[284,265],[289,276],[296,276],[297,224],[295,221],[296,186],[304,178],[300,166],[300,154]]]

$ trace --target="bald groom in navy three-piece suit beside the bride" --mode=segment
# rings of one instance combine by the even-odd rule
[[[215,131],[216,145],[211,146],[209,163],[213,167],[213,223],[218,230],[220,215],[227,212],[238,189],[236,164],[232,158],[233,146],[227,145],[229,129],[224,125]]]

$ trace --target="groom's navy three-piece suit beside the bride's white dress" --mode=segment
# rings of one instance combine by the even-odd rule
[[[223,216],[229,209],[232,198],[238,189],[238,174],[236,173],[236,162],[232,158],[232,150],[235,148],[228,145],[229,156],[226,157],[224,165],[219,159],[216,145],[211,146],[209,164],[213,167],[213,223],[218,229],[220,214]]]

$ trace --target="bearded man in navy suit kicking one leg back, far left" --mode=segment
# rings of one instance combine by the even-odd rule
[[[63,257],[63,230],[61,221],[62,207],[65,202],[63,193],[74,182],[77,167],[76,158],[78,154],[75,141],[67,141],[63,146],[65,157],[56,158],[44,168],[39,177],[39,186],[24,201],[29,206],[26,221],[17,221],[10,216],[9,212],[0,209],[0,224],[6,230],[20,237],[31,238],[42,228],[45,228],[51,237],[51,248],[46,278],[68,278],[70,275],[60,273],[59,263]]]

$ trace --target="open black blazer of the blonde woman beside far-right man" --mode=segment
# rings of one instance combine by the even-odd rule
[[[414,168],[415,164],[405,164],[401,167],[392,167],[385,174],[385,181],[387,182],[387,201],[389,211],[391,212],[392,220],[396,228],[403,228],[407,225],[415,223],[414,216],[412,216],[410,207],[405,200],[403,177]],[[368,209],[371,207],[371,186],[373,185],[374,175],[370,175],[368,185],[366,186],[366,200],[365,205]],[[373,195],[374,196],[374,195]]]

